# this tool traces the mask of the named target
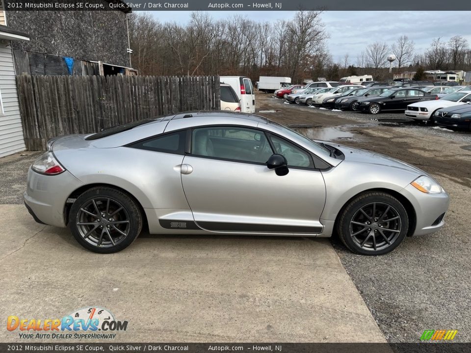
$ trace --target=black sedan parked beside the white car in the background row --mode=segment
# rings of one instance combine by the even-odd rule
[[[437,95],[431,95],[417,88],[391,88],[379,96],[358,100],[357,109],[378,114],[383,110],[406,110],[409,104],[435,99],[438,99]]]

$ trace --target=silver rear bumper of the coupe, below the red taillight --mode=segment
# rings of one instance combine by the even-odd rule
[[[67,199],[81,186],[83,183],[68,171],[47,176],[29,168],[23,199],[36,222],[66,227],[64,211]]]

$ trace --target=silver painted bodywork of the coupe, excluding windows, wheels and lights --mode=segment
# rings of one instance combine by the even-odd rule
[[[311,153],[317,165],[325,168],[289,167],[288,175],[277,176],[262,163],[126,147],[164,132],[201,126],[271,133]],[[410,184],[427,176],[416,167],[337,144],[332,146],[343,152],[344,159],[331,157],[312,140],[244,113],[182,113],[95,140],[85,137],[70,135],[49,144],[65,172],[46,176],[29,169],[24,200],[39,221],[66,227],[67,205],[96,185],[132,195],[144,211],[150,232],[164,234],[329,237],[342,207],[366,190],[387,190],[409,205],[415,221],[408,235],[439,230],[444,221],[435,221],[448,208],[445,191],[425,194]],[[185,227],[168,226],[172,222]]]

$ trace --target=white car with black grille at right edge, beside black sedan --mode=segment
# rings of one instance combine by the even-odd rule
[[[433,113],[441,108],[454,105],[469,104],[471,91],[458,91],[433,101],[420,101],[407,106],[405,115],[414,120],[428,120]]]

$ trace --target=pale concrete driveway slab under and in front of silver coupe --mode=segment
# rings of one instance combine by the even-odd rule
[[[0,227],[2,320],[99,305],[129,321],[114,342],[385,342],[329,240],[142,234],[101,255],[23,205]]]

